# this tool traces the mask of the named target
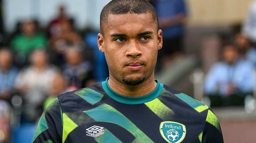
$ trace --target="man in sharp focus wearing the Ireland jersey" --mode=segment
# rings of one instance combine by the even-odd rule
[[[56,98],[44,111],[33,142],[222,143],[209,108],[154,80],[162,47],[154,7],[113,0],[100,15],[98,46],[109,78]]]

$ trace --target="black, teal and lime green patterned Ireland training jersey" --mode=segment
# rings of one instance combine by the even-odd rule
[[[203,103],[157,80],[145,96],[122,96],[107,80],[54,99],[32,142],[223,143],[219,121]]]

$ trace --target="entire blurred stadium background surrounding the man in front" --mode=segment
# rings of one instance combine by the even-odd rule
[[[104,81],[110,0],[0,0],[0,143],[30,143],[59,94]],[[209,105],[225,143],[256,141],[256,1],[149,0],[163,30],[156,78]]]

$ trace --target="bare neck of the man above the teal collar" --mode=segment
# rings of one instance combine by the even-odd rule
[[[144,82],[138,85],[127,85],[123,82],[119,82],[111,75],[109,76],[108,84],[113,91],[129,97],[139,97],[147,95],[152,92],[157,85],[154,80],[154,72],[153,75],[151,75]]]

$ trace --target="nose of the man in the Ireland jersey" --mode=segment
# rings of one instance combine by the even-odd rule
[[[137,41],[131,41],[128,45],[128,50],[126,52],[127,57],[139,58],[142,55],[142,51],[140,50],[139,44]]]

